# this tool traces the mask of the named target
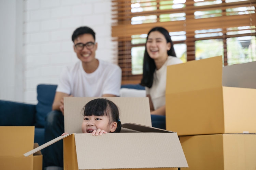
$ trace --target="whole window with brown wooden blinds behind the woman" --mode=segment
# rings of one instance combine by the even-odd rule
[[[184,62],[223,56],[223,65],[256,61],[255,0],[112,0],[122,83],[139,83],[146,34],[170,31]]]

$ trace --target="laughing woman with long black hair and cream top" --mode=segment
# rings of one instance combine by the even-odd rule
[[[145,86],[152,115],[165,116],[167,66],[179,63],[182,61],[176,57],[169,32],[162,27],[151,29],[147,34],[140,84]],[[152,120],[155,118],[152,116]]]

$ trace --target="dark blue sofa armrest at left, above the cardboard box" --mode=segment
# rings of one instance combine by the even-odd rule
[[[35,105],[0,100],[0,126],[33,126]]]

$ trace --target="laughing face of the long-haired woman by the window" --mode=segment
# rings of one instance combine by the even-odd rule
[[[159,60],[168,57],[167,51],[171,49],[171,43],[167,43],[165,36],[159,31],[153,31],[148,35],[146,49],[152,59]]]

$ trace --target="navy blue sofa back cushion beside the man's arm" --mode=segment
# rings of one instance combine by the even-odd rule
[[[37,86],[37,113],[35,114],[35,126],[44,127],[46,115],[52,111],[52,104],[57,85],[39,84]]]

